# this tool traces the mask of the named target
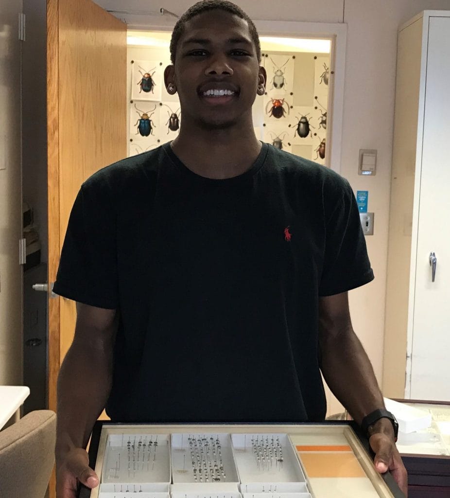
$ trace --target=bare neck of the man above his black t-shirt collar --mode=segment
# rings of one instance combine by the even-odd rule
[[[196,134],[180,130],[171,146],[187,168],[214,179],[232,178],[248,171],[261,150],[261,142],[251,126],[201,130]]]

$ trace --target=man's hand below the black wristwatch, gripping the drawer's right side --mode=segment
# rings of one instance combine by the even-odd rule
[[[390,471],[398,487],[404,493],[405,497],[407,497],[408,474],[395,446],[394,431],[392,430],[391,422],[388,419],[380,419],[370,429],[371,436],[369,443],[375,452],[375,469],[380,474]]]

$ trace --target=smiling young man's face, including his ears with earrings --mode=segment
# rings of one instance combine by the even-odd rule
[[[223,10],[186,23],[172,71],[173,79],[166,71],[166,84],[175,82],[184,120],[208,129],[251,118],[258,83],[265,83],[247,22]]]

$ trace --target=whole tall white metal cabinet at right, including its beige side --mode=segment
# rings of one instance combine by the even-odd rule
[[[450,11],[424,11],[400,30],[383,382],[386,395],[403,394],[404,382],[407,398],[445,401],[450,401],[449,61]],[[437,257],[434,282],[431,252]]]

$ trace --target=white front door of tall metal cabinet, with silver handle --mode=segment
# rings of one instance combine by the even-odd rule
[[[441,401],[450,401],[449,33],[450,16],[430,17],[410,338],[410,397]],[[431,252],[437,257],[434,282]]]

